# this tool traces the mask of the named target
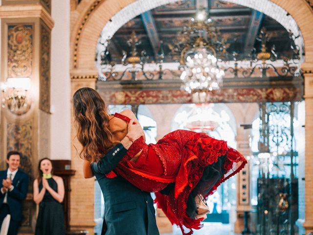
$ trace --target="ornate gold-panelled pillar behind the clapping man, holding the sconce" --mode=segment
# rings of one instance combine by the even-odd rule
[[[50,153],[50,35],[54,25],[50,0],[2,0],[1,82],[9,77],[28,77],[31,108],[18,115],[1,109],[0,160],[7,151],[22,153],[21,168],[30,177],[21,232],[31,233],[35,223],[32,183],[38,159]],[[3,97],[1,97],[3,98]]]

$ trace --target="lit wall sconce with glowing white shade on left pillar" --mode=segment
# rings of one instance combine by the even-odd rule
[[[27,113],[31,106],[29,77],[10,77],[1,84],[1,106],[16,115]]]

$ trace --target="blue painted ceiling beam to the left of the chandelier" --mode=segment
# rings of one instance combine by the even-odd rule
[[[155,57],[158,54],[159,48],[160,48],[160,39],[157,33],[156,29],[156,23],[153,18],[152,12],[151,11],[146,11],[141,14],[141,21],[142,24],[144,25],[146,32],[149,37],[149,41],[151,43],[153,52],[155,54]]]

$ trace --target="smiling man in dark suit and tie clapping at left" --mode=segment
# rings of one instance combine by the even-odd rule
[[[17,235],[22,221],[22,201],[28,189],[28,175],[19,169],[21,153],[8,152],[7,170],[0,171],[0,225],[7,214],[11,215],[8,235]]]

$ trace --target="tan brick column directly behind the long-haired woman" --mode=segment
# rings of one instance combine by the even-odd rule
[[[97,72],[71,72],[71,97],[82,87],[95,89]],[[71,177],[70,194],[70,230],[87,230],[93,235],[94,222],[94,179],[85,179],[83,176],[83,160],[79,158],[81,145],[77,141],[76,129],[73,124],[73,110],[71,108],[71,168],[76,173]],[[76,149],[75,149],[76,147]]]

